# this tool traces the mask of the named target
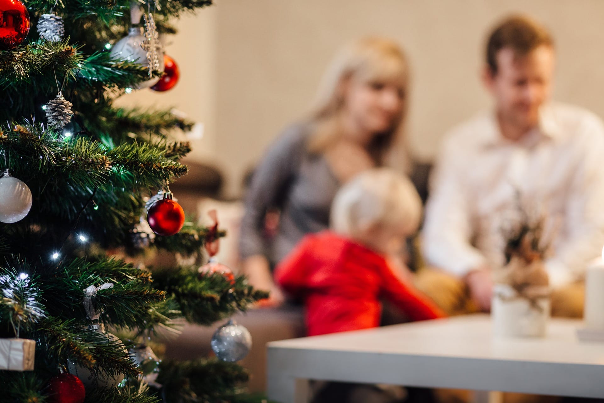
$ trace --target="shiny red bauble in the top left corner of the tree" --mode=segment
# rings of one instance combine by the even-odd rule
[[[30,14],[19,0],[0,0],[0,50],[21,44],[30,31]]]

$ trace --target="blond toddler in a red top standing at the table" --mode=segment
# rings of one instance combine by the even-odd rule
[[[381,297],[411,320],[445,316],[387,263],[421,216],[413,184],[390,169],[367,170],[338,191],[330,230],[304,237],[275,271],[277,283],[304,301],[308,335],[379,326]]]

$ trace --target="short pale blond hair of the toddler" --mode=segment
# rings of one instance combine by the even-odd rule
[[[331,209],[331,228],[361,239],[370,227],[413,234],[422,217],[422,201],[406,176],[388,168],[367,170],[336,193]]]

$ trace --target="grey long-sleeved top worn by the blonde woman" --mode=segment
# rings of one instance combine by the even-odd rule
[[[274,265],[305,234],[329,227],[330,206],[340,184],[325,158],[308,152],[309,135],[309,124],[288,127],[255,170],[245,198],[240,234],[242,259],[261,254]],[[262,233],[270,208],[281,211],[272,244]]]

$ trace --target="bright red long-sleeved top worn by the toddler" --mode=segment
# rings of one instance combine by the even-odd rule
[[[384,257],[330,231],[304,237],[277,266],[275,278],[303,298],[310,336],[379,326],[382,296],[412,320],[445,316],[401,283]]]

